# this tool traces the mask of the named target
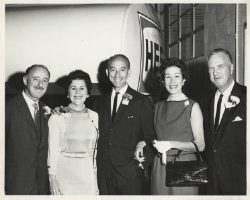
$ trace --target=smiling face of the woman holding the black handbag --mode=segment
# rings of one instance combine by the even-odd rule
[[[181,69],[176,66],[170,66],[165,69],[164,84],[167,91],[171,95],[182,94],[182,86],[185,79],[183,79]]]

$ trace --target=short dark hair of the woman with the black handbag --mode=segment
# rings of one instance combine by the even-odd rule
[[[186,67],[186,64],[178,59],[178,58],[168,58],[166,59],[160,66],[159,68],[159,75],[160,75],[160,81],[161,82],[164,82],[165,81],[165,70],[168,68],[168,67],[172,67],[172,66],[175,66],[175,67],[178,67],[181,69],[181,74],[182,74],[182,77],[183,79],[185,79],[187,81],[188,79],[188,73],[187,73],[187,67]]]

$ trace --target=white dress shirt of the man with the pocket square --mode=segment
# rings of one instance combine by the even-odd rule
[[[220,93],[219,90],[216,91],[215,97],[214,97],[214,121],[215,121],[215,116],[216,116],[216,109],[217,109],[217,102],[219,100],[220,94],[223,95],[222,101],[221,101],[221,107],[220,107],[220,118],[219,118],[219,124],[221,121],[221,118],[224,114],[225,111],[225,103],[228,102],[228,98],[233,90],[235,81],[233,80],[232,83],[229,85],[229,87],[223,92]]]

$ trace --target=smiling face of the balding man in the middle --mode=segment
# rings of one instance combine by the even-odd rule
[[[117,57],[112,60],[107,69],[107,75],[109,80],[112,82],[114,89],[119,91],[126,85],[127,79],[130,75],[130,69],[127,61],[122,57]]]

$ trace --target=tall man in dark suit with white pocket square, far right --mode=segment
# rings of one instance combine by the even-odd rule
[[[205,104],[204,127],[209,164],[208,194],[246,194],[246,87],[234,81],[232,56],[215,49],[208,57],[216,91]]]

